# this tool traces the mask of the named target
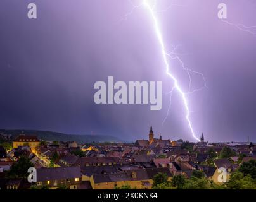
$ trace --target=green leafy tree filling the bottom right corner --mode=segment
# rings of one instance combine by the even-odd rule
[[[256,189],[256,179],[252,179],[250,175],[244,176],[242,172],[233,172],[227,189]]]

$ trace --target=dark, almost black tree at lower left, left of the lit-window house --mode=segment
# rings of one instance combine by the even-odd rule
[[[10,178],[25,178],[29,175],[27,170],[33,166],[34,165],[32,162],[30,162],[29,158],[22,155],[18,159],[18,162],[13,163],[13,165],[11,165],[11,168],[8,171],[8,177],[10,177]]]

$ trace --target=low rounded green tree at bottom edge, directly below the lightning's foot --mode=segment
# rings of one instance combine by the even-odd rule
[[[210,181],[206,178],[191,177],[187,179],[183,189],[210,189]]]

